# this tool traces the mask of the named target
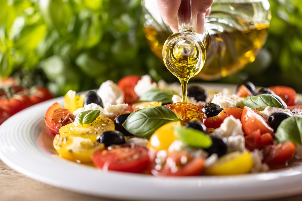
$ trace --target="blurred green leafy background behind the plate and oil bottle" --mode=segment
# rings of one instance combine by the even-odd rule
[[[0,0],[0,76],[46,84],[57,95],[128,74],[176,81],[150,51],[140,0]],[[302,4],[270,0],[267,42],[256,60],[221,83],[286,85],[302,93]],[[202,80],[195,80],[202,81]]]

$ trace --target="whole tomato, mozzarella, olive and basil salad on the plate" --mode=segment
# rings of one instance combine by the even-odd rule
[[[286,86],[235,94],[154,82],[149,75],[108,80],[64,96],[45,123],[64,158],[103,171],[155,176],[235,175],[283,168],[302,158],[302,105]]]

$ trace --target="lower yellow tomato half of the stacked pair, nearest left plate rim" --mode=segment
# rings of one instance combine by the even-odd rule
[[[92,162],[90,156],[95,151],[104,149],[104,144],[82,137],[60,137],[57,134],[53,139],[53,147],[65,159],[87,163]]]

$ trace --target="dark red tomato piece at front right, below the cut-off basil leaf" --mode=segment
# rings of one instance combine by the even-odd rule
[[[296,151],[296,146],[290,141],[269,145],[263,149],[264,162],[270,166],[286,165],[294,157]]]

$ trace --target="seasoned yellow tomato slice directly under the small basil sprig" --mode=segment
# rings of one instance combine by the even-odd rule
[[[91,124],[83,124],[83,126],[80,124],[75,126],[72,122],[71,124],[62,126],[59,130],[59,133],[61,137],[73,136],[88,138],[94,143],[96,142],[96,137],[98,134],[114,129],[114,123],[111,119],[98,117]]]

